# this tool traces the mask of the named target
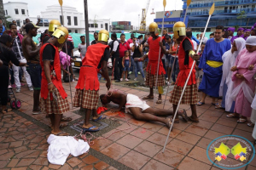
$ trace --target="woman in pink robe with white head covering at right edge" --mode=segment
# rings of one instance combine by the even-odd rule
[[[246,48],[238,54],[236,65],[231,68],[233,71],[232,81],[234,89],[232,98],[236,99],[235,113],[227,117],[240,117],[237,122],[247,122],[247,117],[251,116],[254,90],[256,81],[253,79],[256,67],[249,69],[250,65],[256,65],[256,37],[248,37]]]

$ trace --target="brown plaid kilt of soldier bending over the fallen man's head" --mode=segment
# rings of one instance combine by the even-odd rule
[[[99,90],[76,89],[73,106],[93,110],[97,108],[99,99]]]

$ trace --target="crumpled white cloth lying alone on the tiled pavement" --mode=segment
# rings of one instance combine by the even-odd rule
[[[80,156],[90,149],[84,140],[76,140],[73,136],[55,136],[50,134],[47,139],[49,149],[47,153],[48,161],[55,165],[63,165],[67,156]]]

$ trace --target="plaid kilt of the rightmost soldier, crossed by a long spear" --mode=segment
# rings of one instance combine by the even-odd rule
[[[195,105],[197,103],[197,85],[192,84],[190,86],[187,86],[184,94],[183,99],[181,100],[181,104],[183,105]],[[170,103],[177,105],[178,101],[180,99],[181,94],[183,93],[183,87],[175,85],[170,96]]]

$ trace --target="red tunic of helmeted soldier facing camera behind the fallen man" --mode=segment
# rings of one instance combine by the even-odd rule
[[[162,37],[164,39],[164,37]],[[148,37],[148,45],[149,45],[149,52],[148,52],[148,69],[151,67],[150,74],[156,75],[157,73],[157,66],[158,66],[158,59],[159,59],[159,51],[160,51],[160,42],[161,37],[158,37],[157,39],[153,39],[153,37]],[[159,71],[158,74],[166,74],[166,71],[164,69],[164,65],[161,61],[161,58],[163,56],[163,53],[160,54],[160,65],[159,65]]]

